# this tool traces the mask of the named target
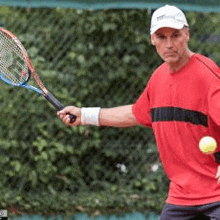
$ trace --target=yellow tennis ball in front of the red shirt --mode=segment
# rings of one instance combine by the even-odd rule
[[[217,148],[217,142],[210,136],[203,137],[199,142],[199,149],[205,154],[214,153]]]

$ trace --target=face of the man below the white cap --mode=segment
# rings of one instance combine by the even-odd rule
[[[188,50],[189,31],[183,29],[160,28],[151,36],[160,57],[169,65],[178,65]]]

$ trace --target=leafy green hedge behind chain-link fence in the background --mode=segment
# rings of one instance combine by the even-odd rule
[[[217,13],[187,13],[190,48],[220,63]],[[65,105],[135,102],[161,63],[150,11],[0,7]],[[66,127],[37,94],[0,82],[0,207],[11,213],[157,211],[168,181],[148,128]]]

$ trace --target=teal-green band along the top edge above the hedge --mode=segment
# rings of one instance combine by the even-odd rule
[[[218,0],[0,0],[1,5],[31,8],[75,9],[155,9],[164,4],[175,4],[182,10],[194,12],[219,12]]]

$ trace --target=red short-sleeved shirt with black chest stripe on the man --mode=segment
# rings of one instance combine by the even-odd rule
[[[202,205],[220,201],[213,154],[199,150],[212,136],[220,144],[220,71],[194,54],[179,71],[163,63],[133,106],[138,122],[153,128],[160,159],[170,179],[167,203]],[[218,147],[217,150],[220,150]]]

